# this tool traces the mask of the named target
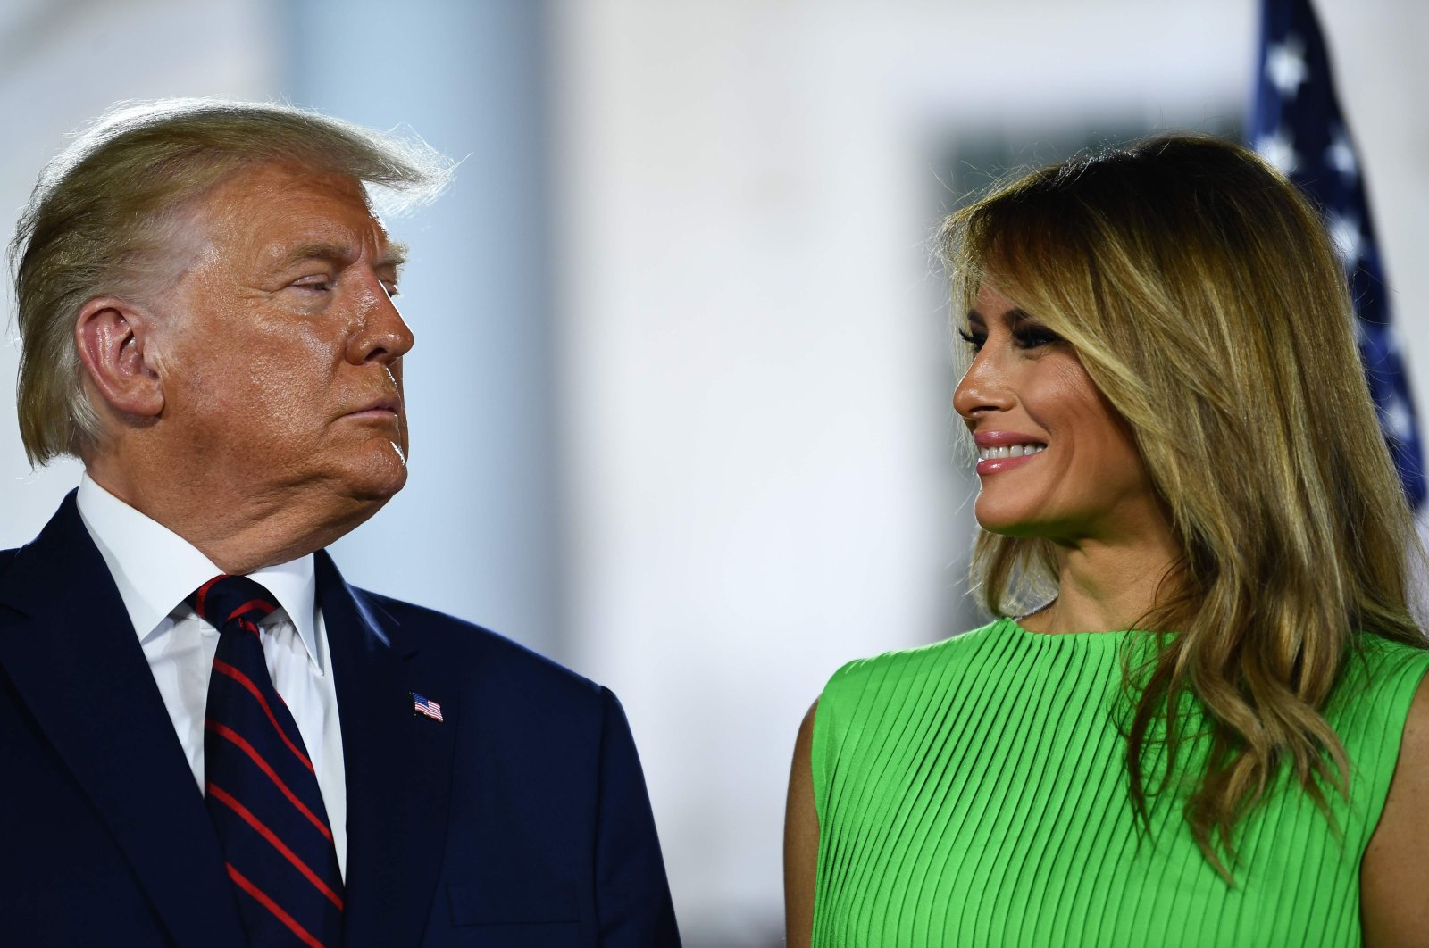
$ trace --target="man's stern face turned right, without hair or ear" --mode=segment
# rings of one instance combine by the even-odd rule
[[[352,178],[266,164],[221,184],[160,301],[161,420],[239,505],[370,515],[407,478],[396,253]],[[320,511],[314,511],[320,513]]]

